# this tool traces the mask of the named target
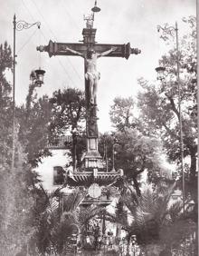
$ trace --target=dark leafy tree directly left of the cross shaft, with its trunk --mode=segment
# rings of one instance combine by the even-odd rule
[[[72,143],[67,145],[71,149],[72,162],[81,166],[81,154],[86,148],[85,134],[85,98],[78,89],[67,88],[53,93],[50,99],[52,115],[50,123],[50,141],[56,140],[61,134],[71,133]],[[71,164],[71,163],[70,163]]]

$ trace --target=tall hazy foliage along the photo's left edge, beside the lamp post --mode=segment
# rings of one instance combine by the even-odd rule
[[[11,168],[13,144],[12,87],[6,81],[6,71],[12,70],[11,48],[0,45],[0,251],[15,255],[27,251],[33,227],[33,173],[27,164],[24,147],[14,129],[14,170]]]

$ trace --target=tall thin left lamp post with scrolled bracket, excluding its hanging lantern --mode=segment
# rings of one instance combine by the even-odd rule
[[[15,54],[15,45],[16,45],[16,30],[17,31],[21,31],[23,29],[29,29],[30,27],[32,27],[33,25],[37,25],[38,28],[40,28],[41,23],[40,22],[36,22],[33,24],[28,24],[25,21],[18,21],[16,22],[16,15],[14,15],[14,59],[13,59],[13,145],[12,145],[12,172],[14,171],[14,150],[15,150],[15,145],[14,145],[14,128],[15,128],[15,116],[14,116],[14,109],[15,109],[15,58],[16,58],[16,54]]]

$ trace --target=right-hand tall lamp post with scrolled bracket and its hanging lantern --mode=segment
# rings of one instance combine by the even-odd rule
[[[182,129],[182,113],[181,113],[181,91],[180,91],[180,64],[179,64],[179,43],[178,43],[178,27],[175,22],[175,26],[165,25],[164,27],[157,25],[157,31],[162,31],[160,36],[163,40],[168,38],[168,35],[175,36],[176,44],[176,84],[177,84],[177,94],[178,94],[178,110],[179,110],[179,132],[180,132],[180,152],[181,152],[181,170],[183,178],[183,211],[185,212],[185,172],[184,172],[184,143],[183,143],[183,129]],[[157,67],[157,79],[161,82],[164,79],[164,73],[166,71],[165,67]]]

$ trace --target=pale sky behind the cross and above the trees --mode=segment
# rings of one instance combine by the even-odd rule
[[[41,66],[45,70],[44,84],[37,94],[52,95],[66,87],[84,90],[83,59],[77,56],[52,56],[39,53],[36,46],[50,40],[60,43],[79,43],[85,27],[83,15],[90,14],[94,0],[0,0],[0,44],[5,40],[13,48],[13,17],[29,24],[41,22],[41,29],[16,32],[15,101],[24,103],[29,76]],[[156,80],[158,59],[166,53],[166,45],[159,38],[156,25],[178,23],[179,37],[185,34],[182,17],[196,15],[196,0],[98,0],[100,13],[95,15],[96,41],[100,44],[127,44],[139,48],[141,54],[125,58],[100,58],[98,70],[98,116],[101,133],[111,129],[109,107],[117,96],[136,99],[140,90],[137,79]],[[11,75],[8,75],[12,83]]]

